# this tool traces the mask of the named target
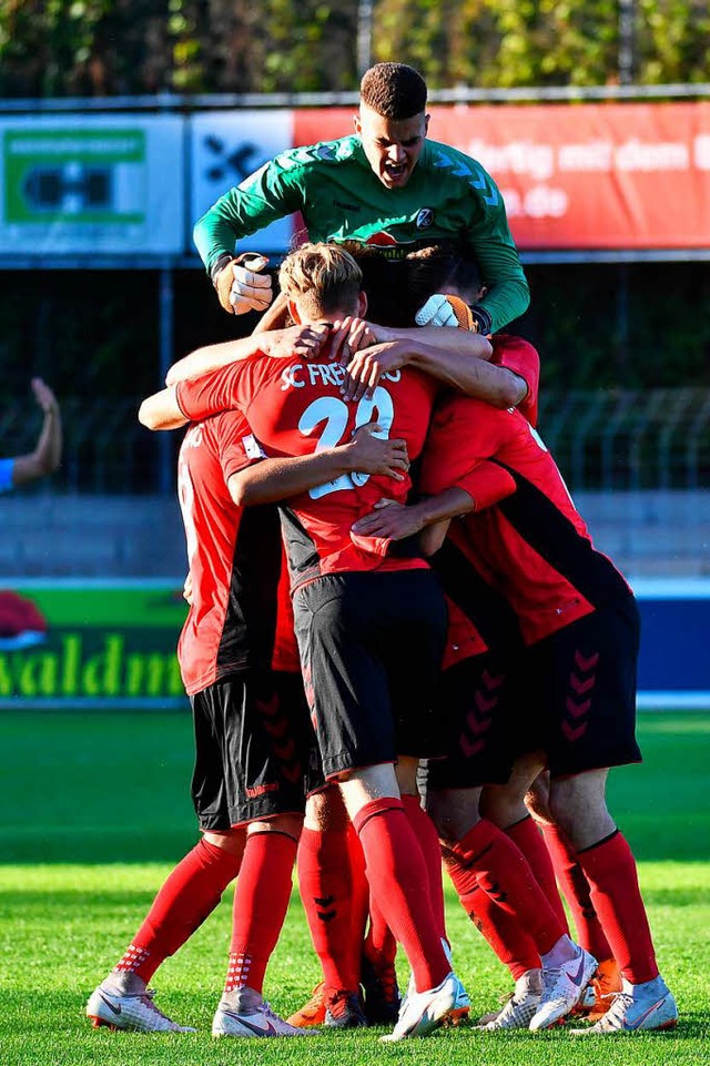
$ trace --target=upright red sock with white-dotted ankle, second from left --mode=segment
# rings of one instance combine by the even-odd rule
[[[225,992],[264,986],[264,973],[288,910],[296,841],[286,833],[252,833],[234,893]]]

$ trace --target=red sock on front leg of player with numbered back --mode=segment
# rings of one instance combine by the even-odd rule
[[[449,972],[436,930],[426,864],[402,800],[385,796],[363,806],[353,824],[365,852],[375,902],[404,947],[415,988],[435,988]]]

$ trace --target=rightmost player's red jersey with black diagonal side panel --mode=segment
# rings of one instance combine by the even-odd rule
[[[476,501],[449,537],[508,599],[526,643],[630,593],[595,549],[555,460],[519,412],[448,397],[433,422],[419,484],[429,495],[455,485]]]

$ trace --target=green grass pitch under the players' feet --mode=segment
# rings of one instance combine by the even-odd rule
[[[710,1064],[710,714],[642,714],[641,766],[616,771],[610,805],[639,859],[662,972],[681,1022],[670,1034],[574,1038],[460,1028],[382,1045],[383,1031],[304,1040],[213,1040],[231,900],[155,975],[161,1006],[194,1034],[95,1031],[85,999],[192,846],[187,714],[0,714],[0,1063],[2,1066],[650,1066]],[[457,968],[473,1016],[509,989],[453,894]],[[297,892],[266,975],[281,1014],[318,979]],[[406,966],[400,968],[406,981]],[[604,1047],[601,1046],[604,1044]]]

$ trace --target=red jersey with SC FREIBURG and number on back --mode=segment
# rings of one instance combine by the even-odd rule
[[[302,363],[253,358],[178,386],[178,402],[191,419],[237,407],[270,455],[298,456],[333,448],[359,426],[377,422],[385,434],[407,443],[410,459],[420,454],[438,385],[413,369],[383,377],[372,399],[345,403],[344,369],[335,362]],[[354,522],[387,497],[404,502],[405,476],[344,475],[288,501],[286,532],[294,587],[321,573],[426,567],[416,556],[385,556],[369,538],[351,537]]]

